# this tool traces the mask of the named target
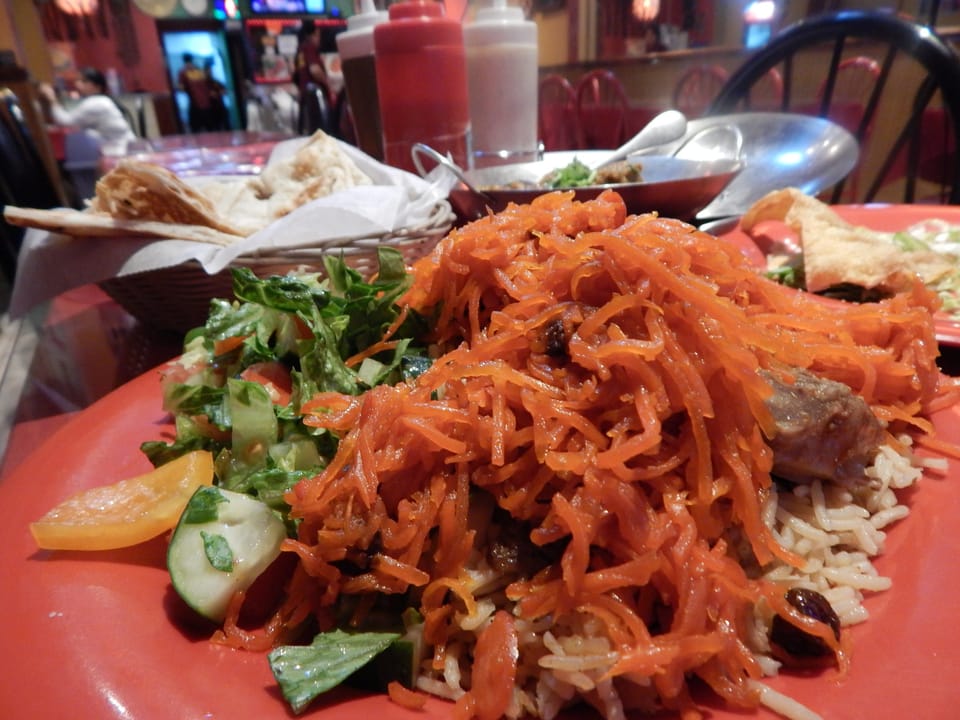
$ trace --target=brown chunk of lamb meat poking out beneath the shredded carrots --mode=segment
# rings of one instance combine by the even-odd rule
[[[777,424],[767,438],[773,449],[773,473],[794,482],[864,481],[884,440],[884,424],[859,395],[843,383],[791,369],[788,379],[761,371],[773,395],[766,405]]]

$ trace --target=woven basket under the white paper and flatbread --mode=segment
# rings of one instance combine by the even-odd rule
[[[429,253],[453,226],[454,214],[439,201],[426,223],[379,237],[343,238],[322,246],[241,255],[219,273],[207,273],[198,262],[114,277],[100,287],[146,326],[183,334],[207,321],[210,301],[233,298],[232,267],[250,268],[258,277],[284,275],[294,270],[323,272],[324,256],[342,256],[364,277],[377,270],[377,249],[399,250],[408,265]]]

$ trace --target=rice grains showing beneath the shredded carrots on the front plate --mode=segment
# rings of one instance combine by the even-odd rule
[[[899,438],[909,446],[908,438]],[[868,482],[857,487],[839,487],[819,481],[794,485],[773,492],[762,507],[764,522],[787,549],[801,555],[800,569],[777,561],[758,570],[763,578],[786,587],[816,590],[826,598],[843,626],[864,622],[869,613],[863,605],[867,593],[891,586],[879,574],[873,560],[883,552],[885,529],[907,517],[896,491],[910,487],[924,468],[942,471],[945,462],[903,456],[890,447],[881,448],[866,471]],[[489,566],[482,553],[475,553],[464,569],[476,594],[475,609],[461,610],[455,621],[463,631],[460,640],[446,648],[440,672],[430,671],[417,680],[419,689],[440,697],[457,699],[470,685],[471,637],[479,636],[498,607],[509,606],[503,594],[504,578]],[[769,644],[769,609],[757,608],[757,623],[746,642],[754,649],[766,676],[779,672]],[[571,624],[554,627],[549,617],[537,621],[515,618],[520,656],[532,672],[526,689],[516,687],[507,717],[536,715],[552,720],[581,698],[609,720],[625,718],[625,706],[657,709],[656,691],[648,678],[628,678],[620,684],[607,678],[618,653],[611,647],[596,618],[577,616]],[[429,661],[427,661],[429,664]],[[646,681],[646,685],[644,682]],[[818,720],[814,711],[764,683],[750,681],[760,702],[789,720]]]

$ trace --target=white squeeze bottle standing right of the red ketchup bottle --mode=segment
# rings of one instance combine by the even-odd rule
[[[474,167],[537,159],[537,25],[490,0],[463,28]]]

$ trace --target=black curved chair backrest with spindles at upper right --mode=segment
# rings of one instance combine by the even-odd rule
[[[960,203],[960,163],[950,155],[960,137],[960,56],[925,25],[886,12],[852,10],[802,20],[751,55],[707,112],[757,109],[751,89],[777,70],[783,80],[779,109],[830,117],[840,97],[840,66],[861,55],[879,65],[854,132],[862,145],[872,128],[871,151],[861,153],[858,168],[862,193],[843,195],[841,182],[826,194],[828,199],[914,202],[918,196],[932,197],[924,184],[931,181],[938,185],[939,199]],[[823,67],[823,73],[815,76],[813,67]],[[936,142],[931,127],[945,137],[943,142]],[[923,169],[933,166],[946,172],[923,177]]]

